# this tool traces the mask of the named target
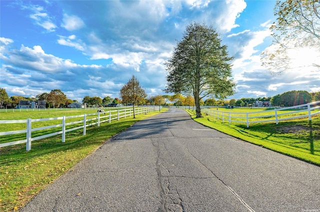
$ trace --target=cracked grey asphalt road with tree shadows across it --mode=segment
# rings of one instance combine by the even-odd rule
[[[114,136],[21,211],[320,212],[320,167],[170,109]]]

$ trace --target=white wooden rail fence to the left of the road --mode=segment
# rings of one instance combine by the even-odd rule
[[[135,108],[134,113],[142,114],[147,113],[150,111],[157,111],[159,110],[158,106],[155,107],[141,107],[141,108]],[[131,117],[133,115],[132,108],[129,109],[120,109],[120,110],[109,110],[105,111],[105,113],[92,113],[92,114],[83,114],[83,115],[76,115],[76,116],[62,116],[62,117],[55,117],[55,118],[44,118],[44,119],[26,119],[26,120],[0,120],[0,124],[15,124],[15,123],[26,123],[26,129],[25,130],[15,130],[15,131],[6,131],[6,132],[0,132],[0,136],[5,135],[13,135],[13,134],[20,134],[20,133],[26,133],[26,139],[19,140],[19,141],[11,141],[7,143],[1,143],[1,147],[16,145],[16,144],[23,144],[26,143],[26,151],[29,151],[31,149],[31,142],[39,139],[43,139],[46,137],[62,134],[62,142],[65,142],[65,133],[70,132],[73,130],[78,130],[83,128],[83,135],[85,135],[86,127],[97,125],[99,126],[100,123],[103,122],[111,122],[111,120],[117,120],[119,121],[120,118],[126,118]],[[88,116],[96,116],[94,118],[87,119]],[[79,121],[74,122],[68,122],[66,123],[67,119],[70,118],[77,118],[77,117],[83,117],[83,119]],[[38,128],[32,128],[32,122],[41,122],[41,121],[51,121],[51,120],[62,120],[61,124],[51,125],[51,126],[45,126],[45,127],[38,127]],[[92,122],[93,120],[96,120],[96,122]],[[91,122],[87,124],[87,122]],[[73,127],[70,129],[65,129],[67,125],[75,125],[81,123],[81,126]],[[51,129],[56,127],[62,127],[61,131],[49,133],[37,137],[31,137],[31,132],[39,131],[39,130],[45,130],[45,129]]]

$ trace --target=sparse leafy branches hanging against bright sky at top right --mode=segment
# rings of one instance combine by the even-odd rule
[[[273,74],[289,70],[294,64],[290,52],[307,47],[320,51],[319,0],[277,0],[274,6],[276,21],[271,25],[272,44],[262,53],[262,65]],[[320,60],[317,60],[320,61]],[[320,62],[307,64],[320,70]]]

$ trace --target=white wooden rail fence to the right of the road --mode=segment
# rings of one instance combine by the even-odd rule
[[[320,106],[317,106],[318,104],[320,104],[320,101],[311,102],[303,105],[292,106],[292,107],[274,109],[274,110],[264,110],[264,111],[246,112],[246,113],[222,112],[217,110],[216,108],[201,108],[201,112],[204,112],[206,115],[209,115],[214,119],[221,120],[222,122],[228,121],[229,124],[231,124],[231,122],[245,123],[246,127],[249,127],[250,123],[275,122],[276,124],[278,124],[279,121],[305,118],[305,117],[308,117],[308,119],[311,120],[312,116],[320,114],[320,111],[317,110],[320,108]],[[289,112],[283,111],[283,110],[290,110],[290,109],[296,109],[296,108],[306,108],[306,109],[294,110]],[[252,119],[255,119],[255,120],[252,120]],[[256,120],[256,119],[259,119],[259,120]]]

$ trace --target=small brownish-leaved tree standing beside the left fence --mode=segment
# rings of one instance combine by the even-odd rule
[[[134,105],[143,101],[147,95],[144,89],[140,86],[137,78],[132,75],[132,78],[120,89],[120,98],[123,103],[132,104],[133,118],[135,118]]]

